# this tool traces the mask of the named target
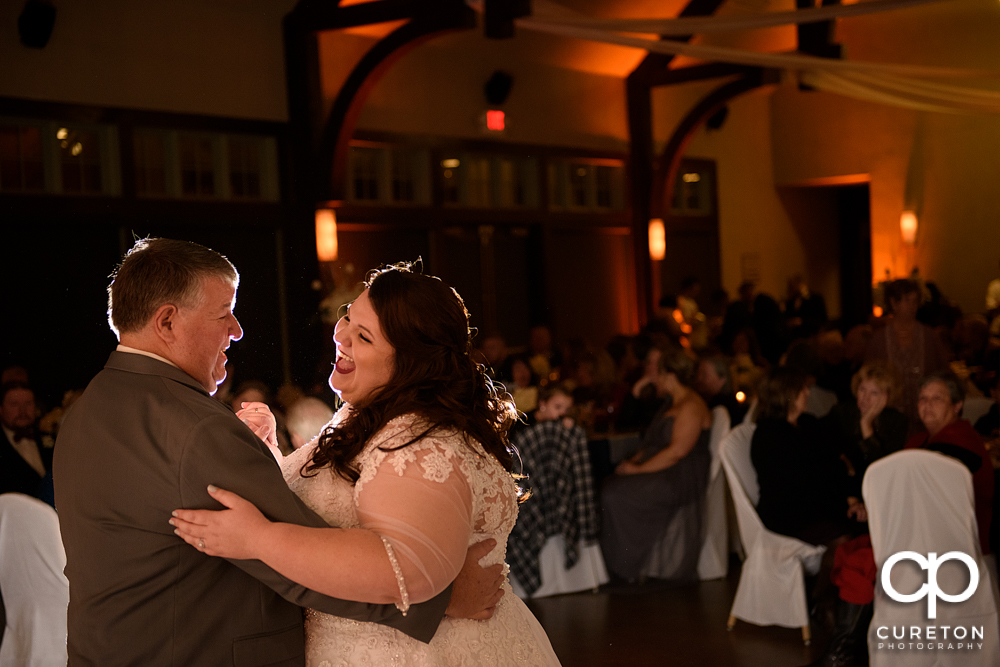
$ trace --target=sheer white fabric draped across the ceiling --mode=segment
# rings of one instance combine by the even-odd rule
[[[533,17],[517,26],[564,37],[616,44],[653,53],[684,55],[699,60],[752,65],[797,72],[800,80],[817,89],[847,97],[944,113],[1000,113],[1000,90],[956,85],[956,80],[1000,79],[1000,72],[953,67],[859,62],[820,58],[799,53],[763,53],[722,46],[690,44],[642,36],[693,35],[752,30],[792,23],[812,23],[905,9],[942,0],[870,0],[855,5],[828,5],[790,12],[744,16],[685,17],[677,19],[592,19],[588,17]]]

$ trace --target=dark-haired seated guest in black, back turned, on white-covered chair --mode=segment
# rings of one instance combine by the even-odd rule
[[[827,544],[851,532],[864,506],[818,419],[806,414],[807,377],[776,368],[761,384],[750,459],[757,471],[757,514],[775,533]]]

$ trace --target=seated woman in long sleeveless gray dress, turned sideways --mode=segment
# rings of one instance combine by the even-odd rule
[[[637,579],[654,547],[675,519],[683,522],[674,571],[657,576],[697,577],[701,515],[711,455],[712,414],[693,388],[694,361],[679,350],[659,357],[657,393],[669,399],[643,434],[643,448],[604,482],[601,547],[608,570]]]

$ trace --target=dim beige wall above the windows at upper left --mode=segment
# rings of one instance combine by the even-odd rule
[[[294,0],[70,0],[44,49],[0,2],[0,95],[287,120],[281,19]]]

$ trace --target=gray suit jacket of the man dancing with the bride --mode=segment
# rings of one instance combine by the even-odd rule
[[[222,509],[209,484],[274,521],[326,524],[245,424],[187,373],[151,357],[111,354],[67,414],[54,465],[71,666],[302,665],[301,607],[429,641],[450,599],[449,588],[403,617],[392,605],[329,598],[260,561],[213,558],[183,542],[170,512]]]

